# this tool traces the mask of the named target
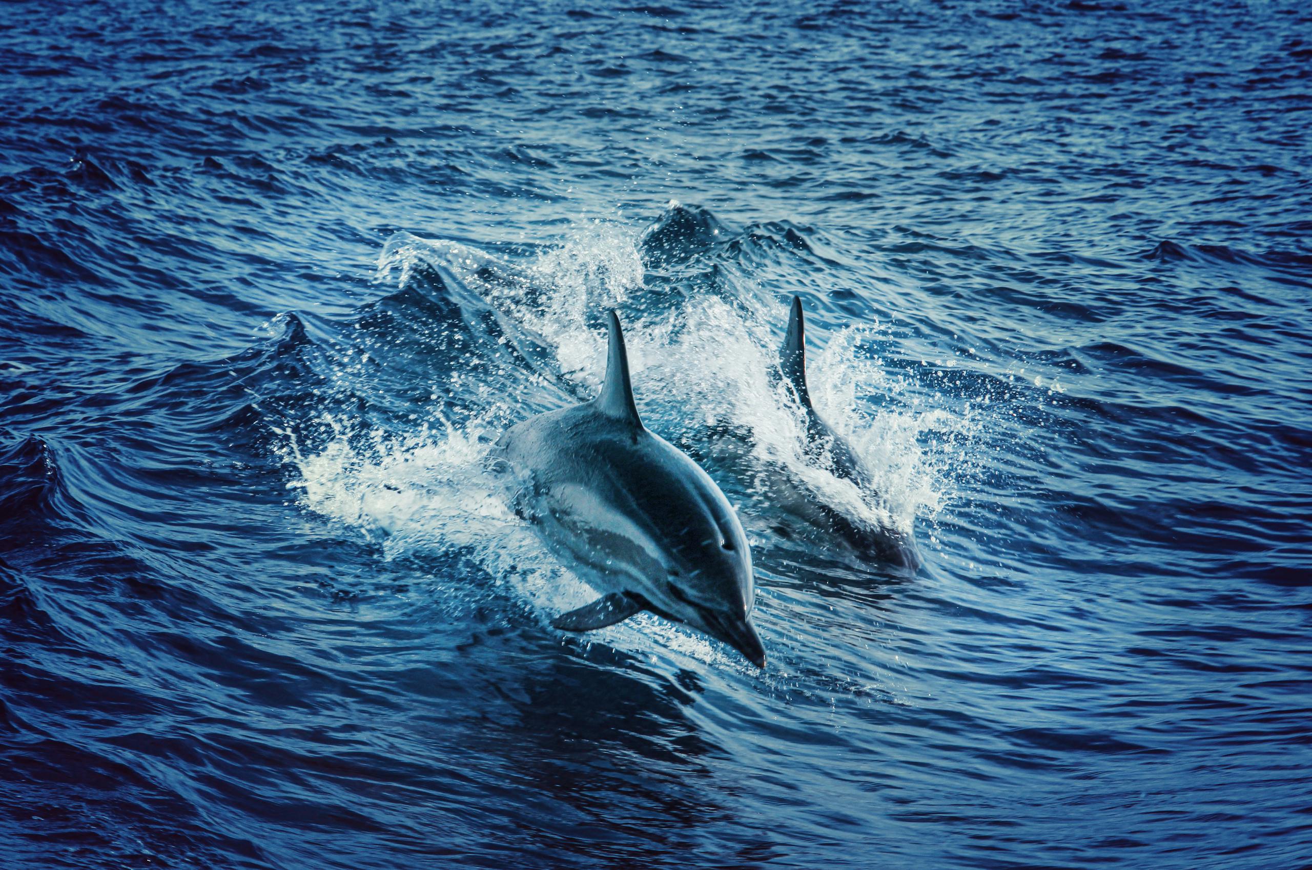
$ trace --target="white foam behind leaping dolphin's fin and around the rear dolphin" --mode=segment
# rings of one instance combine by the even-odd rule
[[[544,339],[562,373],[586,392],[605,369],[600,313],[646,301],[638,237],[630,227],[580,221],[562,244],[518,266],[468,245],[401,235],[379,257],[379,278],[400,267],[404,283],[416,262],[450,270]],[[888,377],[875,355],[884,341],[878,324],[840,330],[820,352],[812,337],[812,401],[874,474],[870,490],[858,489],[808,456],[803,410],[786,385],[771,383],[786,316],[769,293],[747,287],[735,301],[706,295],[626,317],[635,389],[652,427],[694,438],[708,425],[747,428],[762,465],[786,469],[850,519],[903,531],[917,519],[933,521],[951,497],[953,466],[974,431],[970,409],[946,410]],[[886,401],[866,401],[871,396]]]

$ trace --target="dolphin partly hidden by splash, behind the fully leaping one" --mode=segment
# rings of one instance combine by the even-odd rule
[[[792,384],[798,401],[807,415],[807,453],[827,468],[834,477],[849,480],[862,490],[874,489],[870,469],[851,449],[851,445],[816,411],[811,404],[811,390],[807,388],[807,337],[806,321],[802,314],[802,297],[792,297],[789,313],[789,330],[779,350],[779,371]],[[869,528],[853,523],[833,508],[815,503],[812,499],[789,499],[800,510],[792,512],[804,515],[812,523],[828,527],[858,550],[871,554],[884,562],[914,571],[920,558],[911,539],[897,529]]]

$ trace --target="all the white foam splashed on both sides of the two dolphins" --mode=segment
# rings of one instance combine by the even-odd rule
[[[811,337],[808,383],[824,418],[874,474],[870,490],[837,478],[807,452],[806,417],[791,389],[771,377],[787,307],[756,287],[726,299],[678,297],[643,305],[643,265],[632,228],[584,221],[556,246],[517,263],[446,240],[399,233],[378,262],[378,279],[405,286],[421,266],[440,267],[541,341],[581,393],[605,369],[601,312],[625,312],[630,366],[648,426],[670,440],[703,438],[707,427],[750,432],[752,461],[785,469],[823,503],[858,523],[911,529],[933,523],[950,502],[976,422],[922,387],[890,376],[878,359],[882,325],[844,329],[820,350]],[[358,360],[338,375],[367,376]],[[544,617],[579,607],[594,592],[562,566],[509,507],[505,482],[487,470],[504,421],[522,417],[495,384],[466,384],[454,372],[432,387],[462,410],[453,425],[436,410],[400,431],[365,430],[345,414],[324,414],[314,449],[283,432],[289,486],[308,510],[378,542],[387,558],[459,552],[509,584]],[[436,405],[434,405],[436,407]],[[302,430],[307,431],[307,430]],[[769,510],[768,491],[760,504]],[[929,540],[933,540],[930,533]],[[924,539],[922,539],[924,542]],[[649,639],[640,639],[648,635]],[[659,620],[607,629],[597,639],[649,649],[652,641],[720,660],[715,645]]]

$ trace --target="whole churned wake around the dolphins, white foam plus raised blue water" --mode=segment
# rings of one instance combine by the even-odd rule
[[[750,278],[752,263],[804,245],[787,232],[794,242],[781,245],[760,228],[732,232],[672,204],[638,233],[588,221],[529,252],[398,233],[377,275],[396,292],[335,328],[331,389],[314,415],[278,423],[289,486],[386,558],[461,553],[543,613],[586,600],[487,465],[509,425],[597,393],[602,317],[615,309],[647,427],[720,483],[753,549],[804,557],[819,548],[857,570],[891,570],[834,528],[908,540],[917,523],[932,528],[954,466],[962,473],[975,415],[968,404],[954,413],[924,402],[886,373],[876,320],[840,328],[810,363],[810,392],[869,480],[836,473],[808,438],[798,392],[779,377],[787,305]],[[412,409],[395,407],[398,390]],[[390,398],[367,398],[378,394]]]

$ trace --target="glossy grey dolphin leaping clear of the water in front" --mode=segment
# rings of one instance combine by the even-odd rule
[[[601,394],[513,426],[497,451],[522,481],[521,512],[604,592],[552,625],[588,632],[649,611],[765,667],[743,525],[710,476],[643,426],[614,312]]]

